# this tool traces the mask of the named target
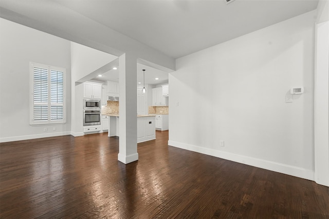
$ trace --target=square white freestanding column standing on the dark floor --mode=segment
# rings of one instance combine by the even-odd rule
[[[119,57],[119,154],[118,161],[128,164],[138,160],[137,153],[137,56]]]

